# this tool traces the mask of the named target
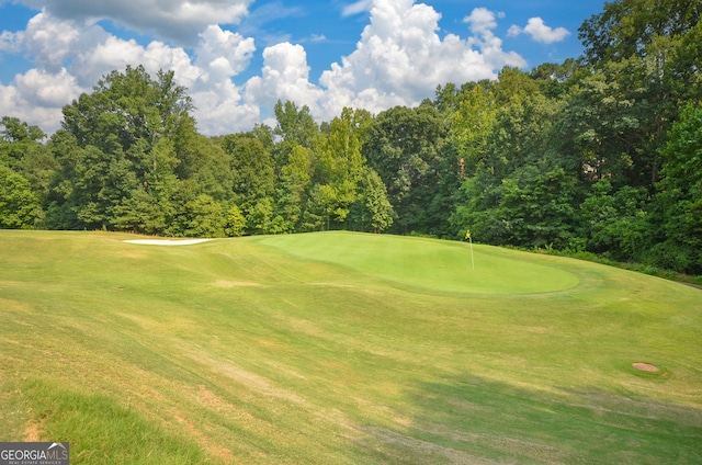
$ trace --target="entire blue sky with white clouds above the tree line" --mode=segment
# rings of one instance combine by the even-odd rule
[[[173,69],[204,134],[416,105],[438,84],[578,57],[604,0],[0,0],[0,116],[47,133],[113,69]]]

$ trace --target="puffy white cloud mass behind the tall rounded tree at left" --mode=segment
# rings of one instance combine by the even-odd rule
[[[94,23],[61,20],[41,12],[25,31],[3,33],[2,48],[22,50],[36,68],[0,86],[3,113],[54,132],[61,121],[61,107],[113,70],[143,65],[152,76],[173,70],[179,84],[189,89],[195,117],[205,134],[245,131],[252,127],[259,109],[242,104],[241,89],[231,78],[245,70],[256,47],[252,38],[205,27],[191,57],[184,48],[160,41],[146,46],[123,39]]]

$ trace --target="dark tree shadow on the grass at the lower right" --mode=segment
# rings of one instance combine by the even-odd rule
[[[396,463],[702,463],[702,409],[694,407],[597,388],[551,395],[472,375],[422,383],[408,395],[409,418],[366,429]]]

